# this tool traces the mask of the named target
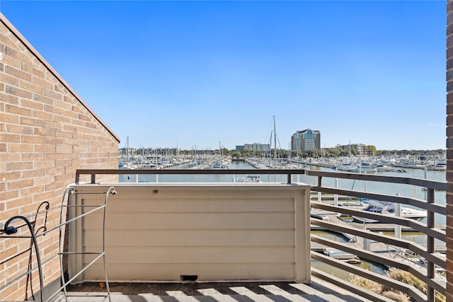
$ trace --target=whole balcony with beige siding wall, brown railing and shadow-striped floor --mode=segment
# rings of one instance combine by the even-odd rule
[[[257,173],[285,175],[285,182],[96,182],[101,174]],[[317,183],[296,182],[302,174]],[[328,179],[423,188],[426,200],[323,185]],[[68,272],[62,283],[76,285],[62,286],[43,299],[67,291],[67,296],[77,295],[70,301],[84,301],[80,295],[97,301],[90,300],[97,294],[112,300],[118,298],[116,294],[130,295],[130,301],[154,301],[154,295],[166,301],[178,293],[176,301],[185,301],[181,297],[190,293],[195,296],[190,301],[204,301],[202,296],[212,301],[300,297],[317,301],[334,296],[345,301],[391,301],[314,268],[316,261],[401,291],[413,301],[435,301],[436,292],[445,295],[446,290],[441,274],[446,269],[442,254],[446,235],[444,226],[435,223],[435,218],[446,215],[445,204],[435,201],[435,190],[445,187],[444,182],[418,178],[314,170],[79,170],[60,209],[63,217],[68,211],[67,220],[46,231],[69,228],[67,243],[60,243],[57,257],[62,275]],[[424,209],[427,215],[425,221],[416,221],[371,213],[341,205],[338,198],[345,197],[386,200]],[[340,214],[379,220],[380,228],[392,228],[395,235],[373,231],[371,223],[357,226],[341,221]],[[345,234],[352,240],[340,243],[312,235],[310,229]],[[402,239],[401,229],[425,234],[426,242]],[[64,238],[62,233],[59,236]],[[329,249],[409,272],[427,284],[426,291],[319,252]]]

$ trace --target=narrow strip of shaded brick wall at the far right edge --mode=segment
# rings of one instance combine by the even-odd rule
[[[447,301],[453,302],[453,1],[447,1]]]

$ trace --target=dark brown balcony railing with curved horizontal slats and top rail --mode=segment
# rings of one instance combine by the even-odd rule
[[[442,226],[435,225],[435,214],[440,214],[446,216],[446,207],[445,204],[438,204],[435,202],[435,190],[446,190],[445,182],[437,182],[434,180],[426,180],[420,178],[403,178],[403,177],[394,177],[394,176],[382,176],[382,175],[367,175],[367,174],[356,174],[356,173],[336,173],[336,172],[323,172],[316,170],[122,170],[122,171],[100,171],[100,170],[79,170],[79,175],[89,174],[91,175],[91,182],[96,182],[96,174],[103,173],[123,173],[123,174],[142,174],[142,173],[156,173],[156,174],[263,174],[263,175],[287,175],[287,183],[292,182],[292,175],[306,174],[309,176],[314,176],[318,178],[317,185],[311,186],[312,192],[319,192],[321,194],[333,194],[334,196],[343,196],[343,197],[354,197],[354,198],[364,198],[364,199],[377,199],[385,200],[387,202],[394,202],[397,206],[401,207],[401,204],[406,204],[408,206],[416,207],[418,209],[424,209],[427,211],[426,221],[420,222],[413,219],[403,218],[398,216],[386,216],[383,214],[375,214],[369,211],[362,211],[360,209],[352,209],[350,207],[338,207],[338,204],[328,204],[326,202],[311,202],[311,208],[321,209],[324,211],[330,211],[332,213],[340,213],[350,216],[360,216],[364,219],[374,219],[381,221],[382,223],[391,223],[395,227],[396,237],[384,236],[379,233],[373,233],[367,230],[360,230],[358,228],[353,228],[347,225],[342,225],[338,223],[323,221],[321,219],[312,218],[311,225],[319,226],[325,228],[328,231],[335,231],[340,233],[348,233],[356,238],[360,238],[365,243],[372,240],[373,243],[380,243],[386,248],[391,248],[396,252],[396,255],[403,255],[403,257],[396,258],[396,255],[386,257],[381,253],[371,252],[369,250],[364,250],[360,248],[355,248],[352,245],[347,243],[337,243],[333,240],[328,240],[321,238],[319,236],[311,236],[311,241],[313,243],[319,243],[323,246],[336,248],[344,252],[350,252],[353,255],[357,255],[362,259],[366,259],[372,262],[381,263],[389,267],[396,267],[402,269],[406,272],[410,272],[415,277],[420,279],[420,281],[427,284],[426,293],[421,292],[419,289],[415,289],[413,286],[404,284],[403,282],[395,281],[394,279],[389,279],[388,277],[382,276],[380,274],[375,274],[369,272],[365,269],[357,268],[353,265],[345,264],[342,261],[333,259],[326,255],[321,255],[318,252],[311,252],[311,257],[313,259],[319,260],[321,262],[326,262],[329,265],[334,267],[339,267],[347,272],[357,274],[366,279],[372,281],[377,281],[379,284],[384,286],[389,286],[398,291],[408,294],[415,301],[435,301],[435,291],[438,291],[440,294],[445,294],[446,290],[446,281],[445,278],[439,276],[438,272],[446,269],[446,259],[445,254],[442,254],[441,251],[437,250],[435,240],[440,242],[442,247],[446,243],[446,233],[445,228]],[[365,192],[359,190],[345,190],[338,187],[326,187],[322,185],[323,179],[326,178],[343,178],[349,180],[362,180],[367,182],[385,182],[392,184],[402,184],[402,185],[412,185],[420,189],[426,190],[426,199],[417,199],[415,197],[408,196],[396,196],[392,194],[379,194],[374,192]],[[398,210],[399,207],[396,207]],[[398,238],[398,231],[401,230],[401,226],[406,228],[411,228],[413,231],[418,231],[426,235],[426,244],[420,245],[418,243],[413,243],[408,240],[403,240]],[[413,257],[416,257],[417,260],[424,265],[421,267],[415,265],[413,262],[409,261],[406,253],[410,252]],[[408,261],[403,261],[408,260]],[[340,286],[348,288],[350,291],[355,291],[355,286],[350,286],[348,283],[345,283],[343,280],[338,280],[331,277],[330,274],[323,273],[317,269],[312,269],[312,274],[323,279],[327,279],[333,283],[336,283]],[[375,299],[375,296],[370,296],[370,298]]]

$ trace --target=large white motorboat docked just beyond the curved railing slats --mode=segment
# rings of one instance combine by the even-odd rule
[[[379,200],[365,200],[362,201],[367,203],[367,207],[362,209],[363,211],[369,211],[372,213],[383,214],[386,216],[395,216],[395,204],[394,202],[382,202]],[[427,216],[425,210],[418,210],[409,207],[401,207],[401,217],[410,218],[415,220],[424,219]],[[355,222],[359,223],[379,223],[379,220],[367,219],[358,216],[352,216]]]

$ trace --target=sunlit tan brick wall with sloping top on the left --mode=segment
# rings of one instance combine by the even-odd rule
[[[42,233],[60,215],[38,209],[59,206],[76,169],[117,168],[119,140],[1,13],[0,55],[0,228],[21,215]],[[52,260],[58,242],[58,231],[38,238],[42,262],[50,260],[43,266],[45,284],[60,275],[58,257]],[[36,267],[35,259],[29,238],[0,238],[0,288]],[[0,290],[0,301],[28,299],[39,289],[34,271]]]

